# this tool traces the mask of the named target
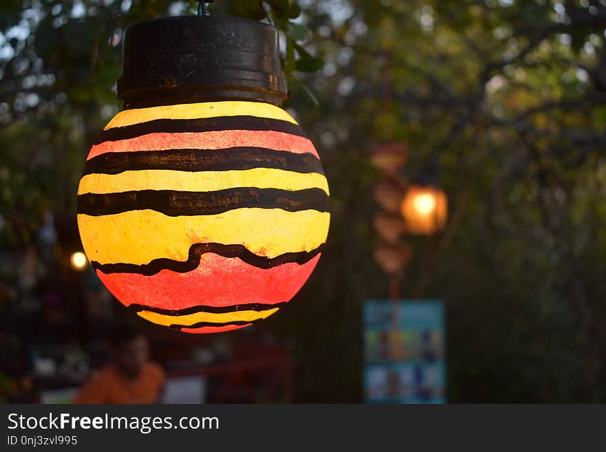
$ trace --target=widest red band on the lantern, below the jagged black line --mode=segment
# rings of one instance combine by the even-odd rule
[[[152,276],[138,273],[97,275],[124,305],[137,303],[169,310],[197,305],[230,306],[244,303],[275,304],[289,301],[311,275],[320,254],[310,261],[284,263],[264,270],[237,257],[202,255],[196,270],[178,273],[161,270]]]

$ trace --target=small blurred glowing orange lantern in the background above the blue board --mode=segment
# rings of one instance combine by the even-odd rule
[[[410,185],[400,204],[406,232],[431,235],[446,226],[448,200],[446,193],[431,185]]]

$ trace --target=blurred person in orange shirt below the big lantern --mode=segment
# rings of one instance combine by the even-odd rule
[[[165,383],[165,372],[149,362],[147,338],[121,325],[112,331],[112,362],[85,383],[74,403],[154,403]]]

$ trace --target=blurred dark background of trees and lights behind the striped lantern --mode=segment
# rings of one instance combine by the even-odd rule
[[[606,1],[297,3],[324,64],[294,73],[286,107],[331,186],[328,244],[252,327],[134,319],[172,400],[362,402],[364,302],[399,297],[443,303],[449,402],[606,402]],[[120,107],[123,30],[196,6],[1,2],[2,402],[72,400],[133,317],[77,254],[76,189]],[[406,149],[401,177],[448,196],[443,230],[406,236],[397,278],[375,261],[386,143]]]

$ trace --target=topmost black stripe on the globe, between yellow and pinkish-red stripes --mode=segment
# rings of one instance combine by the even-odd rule
[[[95,144],[105,141],[127,140],[128,138],[156,132],[180,133],[222,130],[271,130],[306,137],[301,127],[288,121],[259,118],[258,116],[219,116],[217,118],[196,119],[154,119],[124,127],[113,127],[101,132]]]

